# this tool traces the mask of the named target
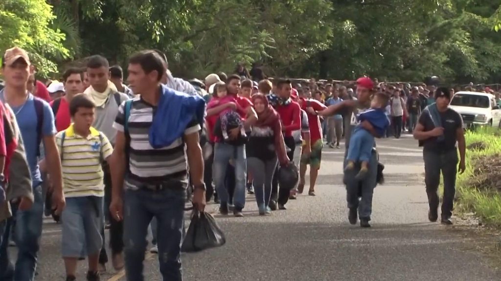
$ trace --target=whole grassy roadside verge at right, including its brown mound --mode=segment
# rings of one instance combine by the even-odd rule
[[[466,132],[466,170],[458,174],[458,209],[501,226],[501,137],[497,128]]]

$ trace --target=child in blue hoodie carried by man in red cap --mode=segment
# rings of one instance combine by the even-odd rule
[[[385,109],[388,98],[388,95],[383,92],[376,93],[371,101],[371,108],[357,115],[358,125],[350,138],[345,167],[345,171],[351,170],[355,167],[355,163],[360,161],[361,168],[355,176],[357,179],[363,178],[369,170],[374,137],[383,136],[390,124]]]

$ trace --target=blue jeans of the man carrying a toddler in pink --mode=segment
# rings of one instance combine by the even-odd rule
[[[221,204],[228,202],[228,190],[224,184],[224,179],[230,159],[233,159],[235,164],[235,192],[233,194],[233,204],[235,208],[243,209],[245,206],[245,183],[247,181],[245,145],[233,146],[222,142],[218,142],[214,145],[212,172],[217,196],[219,196]]]

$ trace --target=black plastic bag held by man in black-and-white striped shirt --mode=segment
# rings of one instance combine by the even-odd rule
[[[181,245],[182,252],[197,252],[219,247],[226,243],[226,238],[214,217],[208,212],[193,211],[191,222]]]

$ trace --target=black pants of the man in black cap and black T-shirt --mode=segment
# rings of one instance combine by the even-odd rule
[[[454,195],[456,192],[457,151],[451,149],[444,152],[423,150],[424,159],[424,182],[430,209],[438,208],[438,185],[440,172],[443,176],[443,201],[442,217],[450,218],[452,215]]]

